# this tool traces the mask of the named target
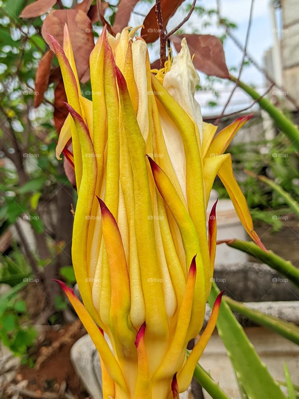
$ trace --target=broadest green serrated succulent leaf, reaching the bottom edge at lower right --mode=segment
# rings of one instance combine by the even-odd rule
[[[212,282],[208,300],[211,307],[219,292],[216,284]],[[286,399],[225,300],[220,305],[216,326],[234,367],[238,383],[246,395],[250,399]]]

